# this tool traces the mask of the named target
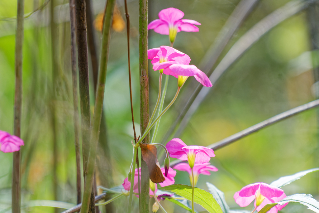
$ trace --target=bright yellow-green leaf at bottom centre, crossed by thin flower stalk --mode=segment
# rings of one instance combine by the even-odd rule
[[[167,190],[174,192],[187,200],[192,200],[192,187],[182,184],[173,184],[159,188],[160,190]],[[203,189],[195,187],[194,202],[204,207],[210,213],[223,213],[218,202],[213,198],[212,194]]]

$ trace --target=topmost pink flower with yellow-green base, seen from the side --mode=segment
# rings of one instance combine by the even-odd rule
[[[179,9],[170,7],[159,11],[159,19],[152,21],[147,29],[154,29],[156,33],[169,35],[172,43],[175,41],[176,34],[181,31],[198,32],[199,29],[195,25],[201,25],[197,21],[190,19],[182,19],[184,13]]]

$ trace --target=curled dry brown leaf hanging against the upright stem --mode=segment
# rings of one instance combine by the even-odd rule
[[[159,162],[157,160],[157,148],[151,144],[140,144],[142,150],[142,157],[145,160],[148,172],[150,174],[150,179],[153,183],[162,183],[165,178],[160,169]]]

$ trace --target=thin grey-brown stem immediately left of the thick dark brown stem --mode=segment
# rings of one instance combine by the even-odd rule
[[[73,85],[73,120],[74,120],[74,143],[77,165],[77,203],[81,203],[81,156],[79,142],[79,118],[78,118],[78,79],[77,79],[77,54],[75,34],[75,0],[70,0],[70,27],[71,27],[71,68]]]

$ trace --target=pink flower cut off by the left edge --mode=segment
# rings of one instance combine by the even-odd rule
[[[0,151],[15,152],[20,150],[20,146],[24,143],[19,137],[0,130]]]

